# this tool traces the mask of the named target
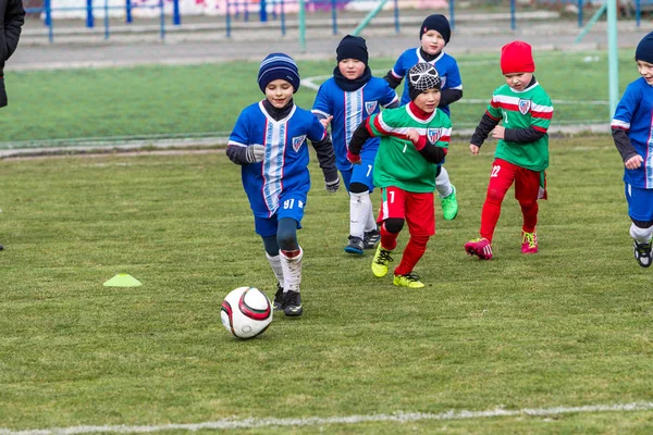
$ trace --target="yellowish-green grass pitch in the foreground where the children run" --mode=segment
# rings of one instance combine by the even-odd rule
[[[651,270],[637,265],[608,136],[552,140],[541,252],[520,253],[508,194],[495,258],[467,257],[493,144],[452,144],[460,213],[442,220],[405,290],[343,252],[344,191],[315,159],[305,315],[241,341],[220,303],[273,275],[222,153],[0,161],[0,426],[159,425],[653,400]],[[374,194],[374,203],[378,194]],[[407,235],[399,237],[399,252]],[[396,256],[398,258],[398,256]],[[130,273],[144,283],[109,288]],[[650,433],[653,412],[261,427],[251,434]],[[1,428],[0,428],[1,432]],[[172,431],[173,433],[175,431]],[[182,431],[176,431],[181,433]]]

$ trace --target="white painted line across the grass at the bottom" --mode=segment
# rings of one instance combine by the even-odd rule
[[[256,419],[244,420],[224,419],[213,422],[188,423],[188,424],[161,424],[143,426],[72,426],[72,427],[52,427],[41,430],[12,431],[0,427],[0,435],[75,435],[90,433],[151,433],[162,431],[200,431],[200,430],[235,430],[235,428],[257,428],[274,426],[323,426],[329,424],[358,424],[368,422],[398,422],[407,423],[423,420],[446,421],[446,420],[473,420],[497,417],[551,417],[571,413],[588,412],[619,412],[619,411],[650,411],[653,410],[653,402],[632,402],[614,405],[588,405],[583,407],[553,407],[553,408],[525,408],[519,410],[506,410],[495,408],[488,411],[447,411],[441,413],[423,412],[396,412],[392,414],[369,414],[369,415],[347,415],[347,417],[309,417],[305,419]]]

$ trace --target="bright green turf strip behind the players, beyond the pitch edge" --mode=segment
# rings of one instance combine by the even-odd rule
[[[631,51],[620,53],[620,91],[637,78]],[[394,60],[372,61],[374,74],[384,75]],[[457,60],[465,96],[453,108],[454,132],[476,126],[492,91],[504,83],[498,54],[466,54]],[[605,52],[537,52],[535,62],[537,77],[551,97],[567,101],[555,105],[554,125],[608,122],[607,102],[588,102],[608,99]],[[329,76],[333,66],[332,60],[299,63],[304,78]],[[10,105],[2,110],[5,144],[0,148],[25,140],[227,136],[239,111],[262,99],[256,85],[257,69],[258,63],[233,62],[12,72],[7,75]],[[296,101],[308,109],[315,95],[305,86]],[[472,100],[481,102],[468,103]]]

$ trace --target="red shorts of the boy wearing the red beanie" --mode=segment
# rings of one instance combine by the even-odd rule
[[[546,199],[545,174],[517,166],[502,159],[494,159],[488,190],[498,190],[505,195],[515,183],[515,199],[518,201],[530,202],[537,201],[539,198]],[[542,175],[544,175],[544,186],[542,186]],[[540,188],[542,189],[540,190]]]

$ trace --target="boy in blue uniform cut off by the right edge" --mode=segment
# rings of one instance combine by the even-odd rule
[[[653,235],[653,32],[634,51],[640,78],[626,88],[612,121],[612,135],[624,160],[630,236],[634,259],[651,265]]]

